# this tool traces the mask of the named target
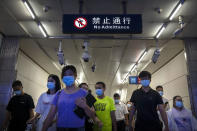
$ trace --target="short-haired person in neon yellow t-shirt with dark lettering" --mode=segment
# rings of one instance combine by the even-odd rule
[[[94,108],[96,116],[103,123],[102,131],[112,131],[112,128],[113,131],[117,131],[114,101],[105,96],[105,88],[103,82],[97,82],[95,85],[97,101],[94,103]],[[94,131],[100,131],[99,127],[95,125]]]

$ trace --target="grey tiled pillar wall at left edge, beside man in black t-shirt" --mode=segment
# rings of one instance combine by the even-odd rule
[[[5,109],[12,94],[12,82],[16,78],[15,65],[18,54],[17,39],[3,39],[0,48],[0,127],[5,117]]]

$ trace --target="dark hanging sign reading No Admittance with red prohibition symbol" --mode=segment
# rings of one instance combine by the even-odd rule
[[[64,34],[140,34],[142,16],[128,15],[71,15],[63,16]]]

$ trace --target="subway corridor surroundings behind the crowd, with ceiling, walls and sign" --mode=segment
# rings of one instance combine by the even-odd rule
[[[61,73],[68,65],[76,67],[76,88],[87,83],[97,99],[96,83],[104,82],[105,95],[115,100],[119,94],[125,106],[137,99],[131,96],[142,87],[140,72],[148,71],[150,87],[163,87],[169,108],[178,95],[197,117],[196,5],[196,0],[1,0],[0,130],[16,95],[15,80],[36,107],[50,74],[67,88]]]

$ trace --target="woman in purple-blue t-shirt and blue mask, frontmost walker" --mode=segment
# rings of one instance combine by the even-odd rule
[[[87,91],[75,85],[77,70],[74,66],[65,66],[61,77],[66,88],[56,93],[42,131],[47,130],[56,112],[58,113],[57,131],[84,131],[85,117],[80,118],[74,110],[79,106],[87,116],[94,119],[95,113],[86,104]]]

